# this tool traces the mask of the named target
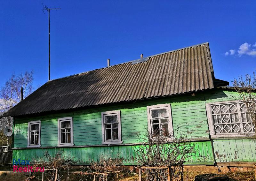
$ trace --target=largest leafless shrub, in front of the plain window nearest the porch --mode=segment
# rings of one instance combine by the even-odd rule
[[[172,180],[177,180],[182,173],[182,164],[190,156],[195,156],[197,150],[188,132],[179,128],[174,134],[160,135],[147,132],[139,138],[141,146],[136,147],[136,160],[143,166],[167,167],[174,165],[171,171]],[[167,180],[167,169],[146,169],[147,181]]]

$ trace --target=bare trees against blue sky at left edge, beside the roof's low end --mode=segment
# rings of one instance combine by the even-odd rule
[[[0,88],[0,116],[21,101],[21,87],[23,87],[23,98],[33,92],[33,71],[26,71],[24,74],[8,78]],[[0,120],[0,129],[12,125],[11,117],[4,117]]]

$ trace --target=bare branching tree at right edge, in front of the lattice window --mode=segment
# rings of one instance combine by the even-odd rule
[[[248,111],[248,121],[252,121],[256,125],[256,74],[245,74],[245,78],[240,76],[232,81],[234,88],[238,92],[241,100]],[[253,138],[256,141],[255,127],[252,127],[252,133],[247,133],[246,136]]]

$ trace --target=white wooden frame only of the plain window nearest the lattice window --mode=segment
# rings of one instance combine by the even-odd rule
[[[169,134],[173,136],[171,104],[156,104],[156,105],[153,105],[153,106],[147,106],[147,111],[148,111],[148,132],[149,132],[150,135],[152,135],[151,110],[163,109],[163,108],[166,109],[167,115],[168,115]]]

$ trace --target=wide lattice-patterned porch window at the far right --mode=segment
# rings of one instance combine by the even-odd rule
[[[255,132],[246,105],[241,101],[207,104],[207,116],[213,138],[244,136],[241,133]]]

